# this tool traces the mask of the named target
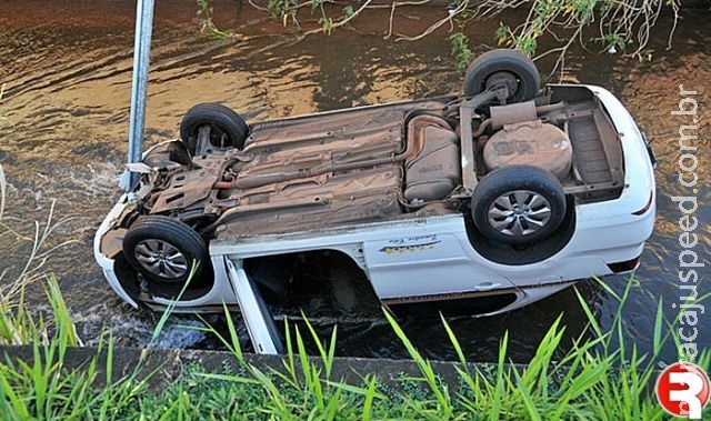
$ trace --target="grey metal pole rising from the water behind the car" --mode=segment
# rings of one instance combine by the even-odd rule
[[[133,81],[131,84],[131,116],[129,124],[128,162],[140,162],[143,153],[143,126],[146,123],[146,97],[148,68],[153,31],[153,1],[138,0],[136,7],[136,40],[133,44]],[[121,188],[130,191],[138,182],[138,173],[128,173]],[[124,173],[126,176],[126,173]]]

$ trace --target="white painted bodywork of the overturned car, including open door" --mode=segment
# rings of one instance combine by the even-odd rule
[[[572,237],[557,252],[528,264],[494,262],[477,251],[458,212],[401,220],[324,227],[309,231],[218,238],[209,243],[214,281],[200,297],[173,300],[131,293],[117,274],[116,260],[102,239],[131,207],[124,194],[94,239],[94,255],[110,287],[133,307],[193,312],[239,305],[258,352],[277,352],[263,301],[254,294],[246,259],[317,250],[336,250],[362,269],[385,305],[512,294],[513,300],[485,314],[521,308],[578,280],[633,269],[651,235],[655,214],[653,164],[647,141],[612,93],[587,87],[603,104],[622,148],[624,187],[617,199],[575,206]],[[148,152],[147,152],[148,153]],[[617,264],[617,265],[615,265]],[[267,314],[267,315],[266,315]]]

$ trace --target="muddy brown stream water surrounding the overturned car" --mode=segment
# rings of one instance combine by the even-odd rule
[[[343,30],[290,44],[269,34],[280,29],[279,24],[227,2],[218,4],[220,23],[240,28],[240,34],[208,40],[197,33],[193,1],[158,2],[146,123],[149,144],[176,137],[182,113],[197,102],[219,101],[254,121],[459,90],[461,77],[452,71],[449,46],[438,37],[417,43],[383,40],[385,28],[379,28],[378,19],[372,19],[374,23],[361,24],[360,33]],[[110,325],[121,343],[144,344],[153,317],[114,297],[91,253],[93,232],[119,194],[118,176],[126,159],[133,2],[3,1],[0,10],[0,83],[7,83],[0,117],[9,120],[0,121],[0,163],[8,178],[3,222],[21,234],[32,235],[32,221],[43,221],[54,202],[53,218],[61,223],[43,250],[69,243],[53,250],[43,269],[60,279],[80,322],[80,333],[92,342],[101,325]],[[432,17],[439,10],[424,13]],[[698,91],[700,224],[694,250],[707,268],[711,265],[710,18],[708,11],[685,12],[671,50],[665,49],[667,28],[655,29],[650,42],[651,62],[574,49],[565,63],[564,80],[601,84],[621,97],[654,139],[660,158],[657,230],[638,270],[639,285],[632,289],[624,312],[625,335],[644,351],[651,349],[660,299],[668,318],[675,311],[672,303],[679,302],[681,212],[670,197],[691,194],[677,180],[678,129],[690,122],[670,116],[680,100],[680,83]],[[417,30],[422,24],[411,14],[402,19],[404,29]],[[488,48],[495,24],[477,23],[467,29],[477,41],[477,51]],[[545,60],[540,64],[551,66]],[[0,241],[0,273],[7,270],[2,278],[7,283],[22,268],[31,247],[9,233],[3,233]],[[711,291],[708,273],[708,269],[700,271],[700,294]],[[615,293],[625,282],[627,277],[608,278]],[[592,281],[582,283],[580,291],[600,321],[609,323],[617,309],[614,295]],[[31,287],[29,300],[41,305],[41,289]],[[585,317],[572,290],[502,317],[454,320],[452,328],[472,360],[495,359],[497,344],[505,330],[510,331],[512,357],[524,360],[560,313],[570,335],[583,328]],[[178,327],[196,324],[196,320],[173,320],[161,344],[213,345],[196,331]],[[211,320],[220,323],[219,318]],[[707,313],[700,323],[708,327],[710,321],[711,314]],[[442,329],[432,320],[402,322],[429,357],[455,357]],[[319,324],[323,332],[328,332],[328,320]],[[342,354],[404,354],[389,328],[372,314],[340,317],[339,338]],[[697,342],[711,345],[711,330],[702,329]],[[663,358],[675,358],[673,347],[664,350]]]

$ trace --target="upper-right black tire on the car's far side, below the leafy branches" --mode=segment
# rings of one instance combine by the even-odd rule
[[[479,56],[469,64],[464,76],[464,96],[473,97],[487,90],[494,74],[512,74],[517,83],[507,103],[524,102],[535,98],[541,77],[535,64],[517,50],[492,50]]]

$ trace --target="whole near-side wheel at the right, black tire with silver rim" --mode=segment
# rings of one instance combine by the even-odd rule
[[[533,166],[511,166],[484,176],[471,197],[474,225],[491,240],[521,244],[542,240],[565,217],[558,179]]]

